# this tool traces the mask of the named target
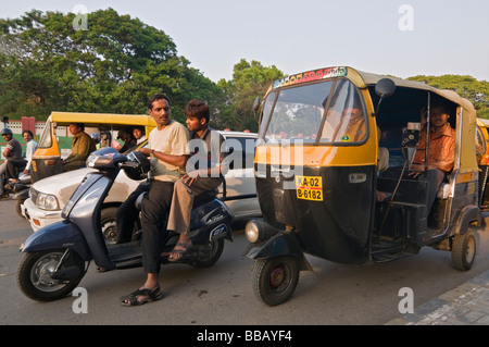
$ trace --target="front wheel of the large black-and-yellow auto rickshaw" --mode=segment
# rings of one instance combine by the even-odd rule
[[[252,281],[253,292],[268,306],[286,302],[299,282],[299,259],[290,256],[255,261]]]

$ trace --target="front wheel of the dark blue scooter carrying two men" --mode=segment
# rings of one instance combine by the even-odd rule
[[[21,290],[36,301],[53,301],[72,293],[85,275],[85,262],[75,252],[63,259],[64,255],[64,249],[26,253],[17,270]],[[59,267],[62,259],[63,263]],[[62,281],[52,277],[54,271],[72,267],[80,270],[79,275]]]

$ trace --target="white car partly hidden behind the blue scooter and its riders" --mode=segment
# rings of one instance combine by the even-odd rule
[[[233,212],[235,220],[260,216],[262,211],[256,199],[254,185],[254,145],[256,134],[241,132],[221,132],[233,156],[234,164],[226,174],[226,194],[220,188],[220,197]],[[65,172],[36,182],[30,187],[29,198],[25,200],[22,212],[36,232],[62,220],[63,210],[85,175],[93,171],[84,168]],[[105,238],[115,236],[115,213],[117,207],[136,189],[139,182],[130,179],[122,170],[103,202],[101,212],[102,231]]]

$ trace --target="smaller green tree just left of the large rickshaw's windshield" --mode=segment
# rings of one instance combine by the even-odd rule
[[[234,66],[233,79],[221,79],[217,86],[222,89],[220,103],[221,117],[229,127],[237,131],[258,131],[258,122],[252,111],[256,97],[263,97],[269,85],[284,77],[284,73],[275,65],[263,66],[258,61],[247,62],[241,59]]]

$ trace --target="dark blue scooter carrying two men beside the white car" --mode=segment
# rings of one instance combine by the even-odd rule
[[[17,270],[17,284],[27,297],[52,301],[77,287],[90,261],[105,271],[142,265],[140,237],[130,243],[108,246],[100,225],[101,206],[120,170],[133,179],[148,176],[150,163],[139,151],[127,156],[104,148],[87,159],[88,173],[63,209],[63,221],[48,225],[30,235],[21,246],[25,253]],[[224,249],[224,239],[233,240],[233,214],[214,193],[196,198],[189,236],[192,248],[176,263],[196,268],[213,265]],[[168,253],[179,234],[164,233],[162,263],[170,263]],[[143,237],[143,235],[141,236]]]

